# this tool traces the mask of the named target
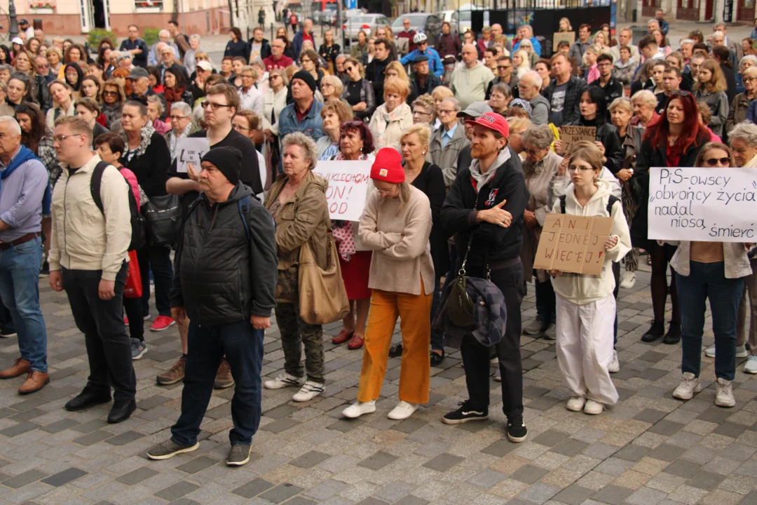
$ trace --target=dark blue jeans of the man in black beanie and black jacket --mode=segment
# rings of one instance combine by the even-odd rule
[[[260,425],[263,330],[254,329],[249,321],[238,321],[218,326],[189,324],[182,413],[171,428],[171,440],[176,444],[197,442],[224,354],[236,383],[232,398],[234,428],[229,441],[232,445],[252,443]]]

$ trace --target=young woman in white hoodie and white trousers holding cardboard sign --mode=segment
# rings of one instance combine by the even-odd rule
[[[600,179],[602,158],[602,151],[594,146],[573,150],[568,166],[572,185],[552,207],[556,214],[612,220],[599,276],[550,271],[557,301],[557,363],[571,394],[566,407],[593,415],[602,413],[603,405],[618,401],[609,375],[616,308],[610,264],[631,251],[622,204],[612,195],[609,182]]]

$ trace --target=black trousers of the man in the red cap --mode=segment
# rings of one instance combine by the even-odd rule
[[[502,411],[508,419],[515,419],[523,415],[523,370],[520,356],[520,306],[525,295],[523,264],[492,270],[491,282],[502,291],[507,307],[505,335],[497,344],[497,356],[500,358],[502,374]],[[463,338],[460,352],[463,354],[471,409],[488,410],[490,348],[479,344],[472,335],[467,335]]]

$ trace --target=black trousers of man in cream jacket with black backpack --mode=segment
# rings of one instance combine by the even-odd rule
[[[111,394],[116,400],[132,400],[137,379],[132,348],[123,325],[123,285],[129,266],[123,263],[116,276],[116,296],[101,300],[101,270],[63,269],[63,287],[71,304],[76,327],[84,334],[89,358],[87,388]]]

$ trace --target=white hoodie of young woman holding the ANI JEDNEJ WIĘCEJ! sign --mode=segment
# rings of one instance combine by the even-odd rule
[[[610,184],[600,179],[597,181],[597,186],[599,189],[587,202],[586,207],[581,207],[581,204],[575,199],[575,186],[569,185],[565,189],[565,214],[608,217],[607,203],[612,194]],[[560,213],[560,201],[557,198],[552,211],[556,214]],[[602,273],[598,276],[591,276],[564,272],[552,279],[555,292],[574,304],[590,304],[593,301],[605,298],[607,295],[612,295],[612,291],[615,289],[615,276],[612,275],[610,263],[620,261],[622,257],[628,254],[628,251],[631,251],[631,233],[628,231],[628,223],[626,223],[623,214],[621,201],[618,200],[612,205],[612,214],[609,217],[612,217],[610,237],[617,237],[618,243],[607,251]]]

